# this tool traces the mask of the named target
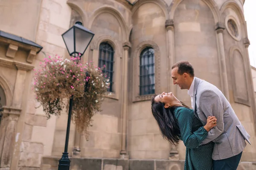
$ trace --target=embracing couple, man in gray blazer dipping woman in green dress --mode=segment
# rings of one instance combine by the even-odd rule
[[[189,62],[172,66],[172,79],[187,89],[192,109],[173,94],[155,95],[151,110],[160,131],[172,144],[186,146],[185,170],[236,170],[249,134],[222,92],[194,75]]]

